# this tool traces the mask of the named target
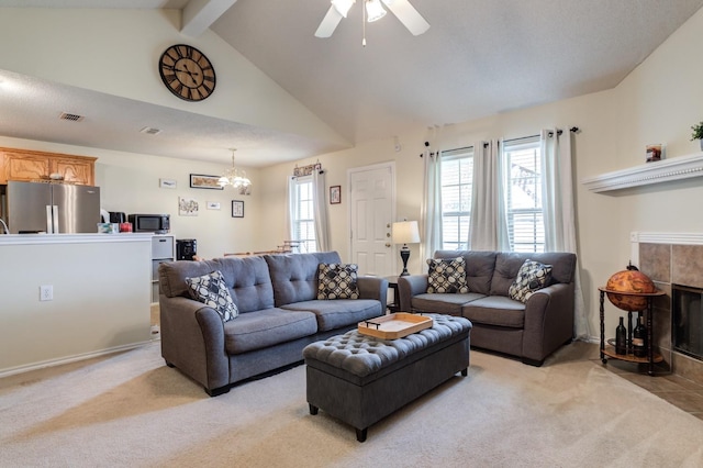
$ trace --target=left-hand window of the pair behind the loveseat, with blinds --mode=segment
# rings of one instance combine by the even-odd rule
[[[442,153],[442,247],[468,249],[471,197],[473,189],[473,148]]]

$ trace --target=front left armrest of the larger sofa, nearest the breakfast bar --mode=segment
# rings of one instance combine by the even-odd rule
[[[224,324],[214,309],[189,298],[159,296],[161,356],[208,393],[230,385]]]

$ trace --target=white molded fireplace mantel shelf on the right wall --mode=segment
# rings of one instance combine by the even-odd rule
[[[629,169],[587,177],[581,179],[581,183],[589,190],[601,193],[692,177],[703,177],[703,153],[678,156]]]

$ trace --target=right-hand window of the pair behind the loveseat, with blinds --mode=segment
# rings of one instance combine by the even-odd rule
[[[507,233],[513,252],[545,252],[539,137],[503,145]]]

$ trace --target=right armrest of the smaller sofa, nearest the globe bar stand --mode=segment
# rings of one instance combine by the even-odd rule
[[[557,283],[536,291],[525,304],[523,359],[540,363],[573,337],[574,285]]]

